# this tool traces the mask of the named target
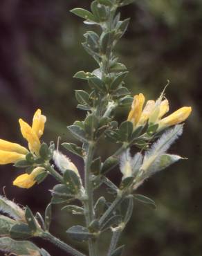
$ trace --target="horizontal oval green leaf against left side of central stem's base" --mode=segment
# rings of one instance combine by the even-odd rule
[[[87,241],[89,238],[93,237],[93,234],[89,232],[88,228],[83,226],[72,226],[71,228],[68,228],[66,232],[76,241]]]

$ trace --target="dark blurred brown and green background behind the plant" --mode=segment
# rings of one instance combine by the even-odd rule
[[[93,71],[95,62],[81,46],[83,34],[90,28],[69,10],[89,8],[87,0],[1,0],[0,3],[0,134],[1,138],[25,145],[19,132],[18,118],[31,122],[40,107],[47,116],[44,141],[74,142],[66,125],[82,120],[84,112],[76,109],[75,89],[86,84],[73,79],[77,71]],[[201,170],[201,98],[202,98],[202,1],[140,0],[121,9],[122,18],[131,23],[118,44],[120,61],[130,71],[127,86],[133,93],[158,98],[167,80],[166,96],[171,111],[192,106],[182,138],[170,152],[189,160],[176,163],[156,174],[138,190],[156,201],[157,209],[136,204],[133,217],[120,244],[127,244],[130,256],[201,256],[202,255],[202,170]],[[117,113],[119,120],[128,109]],[[113,152],[109,144],[100,149],[106,157]],[[80,159],[69,155],[83,172]],[[0,194],[29,205],[33,212],[44,212],[50,201],[49,189],[55,181],[22,190],[12,187],[12,180],[23,170],[1,166]],[[118,169],[110,178],[118,182]],[[70,214],[54,208],[53,233],[75,244],[65,230],[74,221]],[[62,231],[61,231],[62,230]],[[50,255],[65,255],[54,246],[35,239]],[[103,243],[105,243],[103,241]],[[76,244],[86,252],[86,244]],[[104,246],[102,246],[104,247]],[[100,255],[106,255],[100,248]],[[3,255],[3,254],[2,254]]]

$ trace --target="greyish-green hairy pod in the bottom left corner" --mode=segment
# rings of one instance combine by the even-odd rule
[[[4,253],[15,253],[16,255],[40,256],[40,250],[35,244],[30,241],[15,241],[10,237],[0,238],[0,250]]]

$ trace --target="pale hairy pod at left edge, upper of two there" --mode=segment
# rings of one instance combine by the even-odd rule
[[[0,196],[0,212],[8,214],[16,220],[25,219],[24,210],[22,210],[17,203]]]

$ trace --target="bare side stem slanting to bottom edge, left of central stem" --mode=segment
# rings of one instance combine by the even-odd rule
[[[70,253],[73,256],[85,256],[83,253],[80,253],[78,250],[72,248],[71,246],[68,246],[68,244],[60,241],[57,237],[54,237],[49,232],[43,232],[41,237],[50,241],[50,243],[55,244],[55,246],[61,248],[62,250],[65,250],[66,253]]]

